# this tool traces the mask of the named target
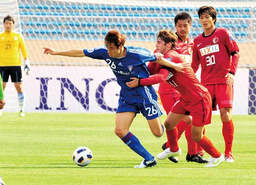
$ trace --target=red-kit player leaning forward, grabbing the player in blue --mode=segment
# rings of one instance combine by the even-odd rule
[[[184,60],[174,51],[177,44],[177,35],[169,30],[161,30],[157,35],[157,41],[165,42],[169,49],[163,56],[174,63],[183,63]],[[160,57],[161,55],[159,55]],[[166,159],[171,156],[179,156],[181,150],[178,147],[178,130],[175,127],[187,115],[192,116],[192,138],[199,143],[204,150],[212,157],[209,164],[205,167],[216,167],[224,162],[224,156],[213,145],[212,142],[203,134],[204,125],[211,122],[212,106],[211,96],[208,90],[198,81],[192,68],[183,70],[184,73],[175,72],[171,68],[161,67],[158,75],[148,78],[136,79],[127,82],[128,87],[137,85],[151,85],[162,81],[167,81],[180,93],[179,100],[174,104],[165,121],[167,140],[170,147],[157,155],[158,159]]]

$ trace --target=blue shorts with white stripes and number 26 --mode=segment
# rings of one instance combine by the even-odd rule
[[[116,113],[123,112],[142,113],[148,120],[163,114],[157,103],[157,94],[152,86],[140,86],[131,91],[121,90]]]

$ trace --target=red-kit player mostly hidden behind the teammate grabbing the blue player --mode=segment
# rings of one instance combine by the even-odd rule
[[[192,49],[194,46],[194,42],[188,38],[189,31],[192,26],[192,18],[186,12],[181,12],[175,16],[174,19],[175,27],[176,27],[176,35],[178,37],[177,45],[175,50],[180,54],[180,56],[186,61],[190,62]],[[161,43],[161,42],[160,42]],[[160,52],[162,54],[166,53],[166,44],[156,44],[156,52]],[[170,49],[170,48],[169,48]],[[148,64],[148,68],[150,70],[150,74],[154,75],[159,72],[160,65],[155,64],[154,62],[150,62]],[[172,106],[176,103],[176,101],[180,98],[180,93],[172,87],[172,85],[167,84],[165,82],[161,82],[159,84],[158,93],[160,95],[161,102],[163,107],[168,114],[172,108]],[[178,139],[182,135],[182,133],[186,130],[185,136],[188,145],[188,153],[186,155],[186,160],[188,162],[198,162],[205,163],[207,160],[203,159],[201,156],[204,155],[203,149],[197,145],[197,143],[192,139],[191,136],[191,116],[185,116],[183,120],[181,120],[177,124],[178,130]],[[169,143],[166,142],[163,144],[162,148],[165,150],[169,147]],[[200,154],[198,156],[198,153]],[[169,157],[169,160],[172,162],[178,162],[176,157]]]

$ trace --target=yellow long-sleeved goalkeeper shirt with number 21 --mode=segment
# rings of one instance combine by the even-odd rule
[[[20,32],[0,33],[0,66],[21,66],[20,51],[27,58],[24,38]]]

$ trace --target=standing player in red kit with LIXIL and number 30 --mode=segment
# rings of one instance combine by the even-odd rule
[[[234,125],[231,109],[239,48],[227,29],[215,27],[217,13],[214,7],[202,6],[198,9],[198,16],[204,32],[194,40],[192,69],[196,72],[201,64],[201,83],[211,94],[212,110],[217,110],[217,104],[220,110],[225,160],[234,162],[232,156]]]

